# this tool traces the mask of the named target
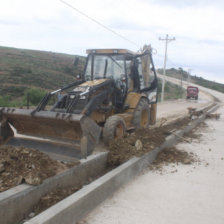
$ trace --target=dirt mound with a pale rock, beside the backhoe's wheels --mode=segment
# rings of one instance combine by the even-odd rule
[[[133,156],[142,156],[156,146],[161,145],[168,135],[186,126],[189,121],[189,118],[185,117],[158,128],[139,129],[131,134],[127,134],[122,139],[111,141],[108,148],[108,164],[110,166],[118,166]]]

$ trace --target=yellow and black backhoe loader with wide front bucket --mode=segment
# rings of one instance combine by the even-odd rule
[[[91,49],[87,54],[83,75],[45,95],[34,110],[0,108],[0,145],[22,134],[87,156],[100,140],[109,144],[129,129],[155,123],[157,75],[150,46],[140,53]]]

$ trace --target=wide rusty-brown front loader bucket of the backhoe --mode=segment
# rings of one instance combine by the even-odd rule
[[[92,153],[98,143],[101,128],[89,117],[70,113],[52,111],[2,108],[0,116],[0,144],[4,144],[13,137],[14,127],[18,134],[57,141],[74,145],[81,150],[83,156]]]

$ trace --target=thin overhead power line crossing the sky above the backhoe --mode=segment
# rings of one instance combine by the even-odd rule
[[[122,39],[128,41],[129,43],[131,43],[131,44],[133,44],[133,45],[135,45],[135,46],[137,46],[137,47],[140,47],[140,46],[139,46],[138,44],[136,44],[135,42],[129,40],[128,38],[126,38],[126,37],[124,37],[124,36],[122,36],[122,35],[120,35],[119,33],[115,32],[115,31],[112,30],[111,28],[105,26],[104,24],[98,22],[96,19],[90,17],[89,15],[85,14],[85,13],[82,12],[81,10],[75,8],[73,5],[70,5],[70,4],[67,3],[66,1],[64,1],[64,0],[60,0],[60,2],[62,2],[62,3],[65,4],[65,5],[67,5],[67,6],[70,7],[71,9],[75,10],[75,11],[78,12],[79,14],[85,16],[86,18],[90,19],[91,21],[93,21],[94,23],[96,23],[96,24],[98,24],[99,26],[103,27],[104,29],[106,29],[106,30],[110,31],[111,33],[117,35],[118,37],[120,37],[120,38],[122,38]]]

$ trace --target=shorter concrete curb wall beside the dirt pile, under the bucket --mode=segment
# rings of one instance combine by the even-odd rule
[[[23,219],[43,195],[57,187],[75,187],[102,174],[107,166],[107,154],[102,152],[80,160],[80,165],[50,177],[38,186],[21,184],[0,193],[1,224],[16,223]]]

